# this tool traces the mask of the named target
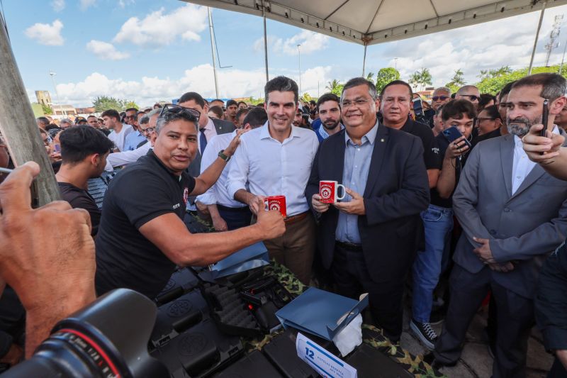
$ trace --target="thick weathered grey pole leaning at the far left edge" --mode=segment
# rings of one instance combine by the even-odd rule
[[[39,205],[43,206],[61,195],[1,18],[0,29],[0,130],[16,166],[30,160],[40,165],[34,181]]]

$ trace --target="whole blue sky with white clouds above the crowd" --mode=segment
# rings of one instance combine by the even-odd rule
[[[23,4],[26,9],[23,9]],[[543,65],[554,16],[567,6],[548,9],[535,65]],[[48,90],[55,101],[50,70],[60,101],[90,106],[98,95],[132,99],[140,106],[170,101],[184,91],[215,96],[206,8],[178,0],[4,0],[12,48],[30,99]],[[464,70],[469,83],[480,70],[524,67],[534,41],[539,12],[396,41],[368,48],[366,72],[397,64],[403,79],[421,67],[435,86]],[[567,23],[567,16],[564,19]],[[264,85],[262,18],[213,9],[223,66],[221,97],[261,96]],[[298,79],[296,45],[301,43],[303,91],[325,93],[331,79],[361,74],[363,47],[267,21],[270,76]],[[551,55],[558,64],[567,38]],[[398,60],[394,60],[394,58]],[[397,63],[396,63],[397,62]]]

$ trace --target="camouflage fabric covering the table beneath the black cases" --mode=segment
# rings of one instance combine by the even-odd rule
[[[303,291],[308,289],[308,286],[299,282],[298,279],[283,265],[278,264],[274,260],[270,265],[264,267],[264,275],[273,275],[277,277],[279,282],[283,284],[291,294],[300,295]],[[252,350],[262,350],[264,345],[268,344],[277,335],[283,333],[283,330],[271,333],[264,336],[262,339],[244,339],[247,352]],[[407,350],[400,348],[400,345],[395,345],[384,337],[382,330],[367,324],[362,325],[362,342],[370,345],[383,352],[384,354],[393,358],[396,362],[402,365],[411,374],[418,378],[436,378],[446,377],[444,374],[439,373],[433,369],[426,362],[422,361],[421,356],[413,356]]]

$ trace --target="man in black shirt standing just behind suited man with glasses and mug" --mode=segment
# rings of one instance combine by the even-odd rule
[[[437,148],[431,128],[410,118],[412,87],[403,80],[394,80],[382,89],[380,99],[384,126],[403,130],[421,139],[427,179],[430,182],[430,188],[435,187],[437,177],[439,177],[441,155],[439,155],[439,148]]]

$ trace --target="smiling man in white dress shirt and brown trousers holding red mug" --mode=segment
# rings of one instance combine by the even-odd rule
[[[258,199],[286,196],[286,233],[265,240],[271,258],[309,283],[315,252],[315,220],[305,186],[319,141],[313,130],[292,126],[298,109],[298,86],[276,77],[264,87],[268,122],[242,135],[228,173],[228,194],[257,213]],[[248,183],[248,188],[246,184]]]

